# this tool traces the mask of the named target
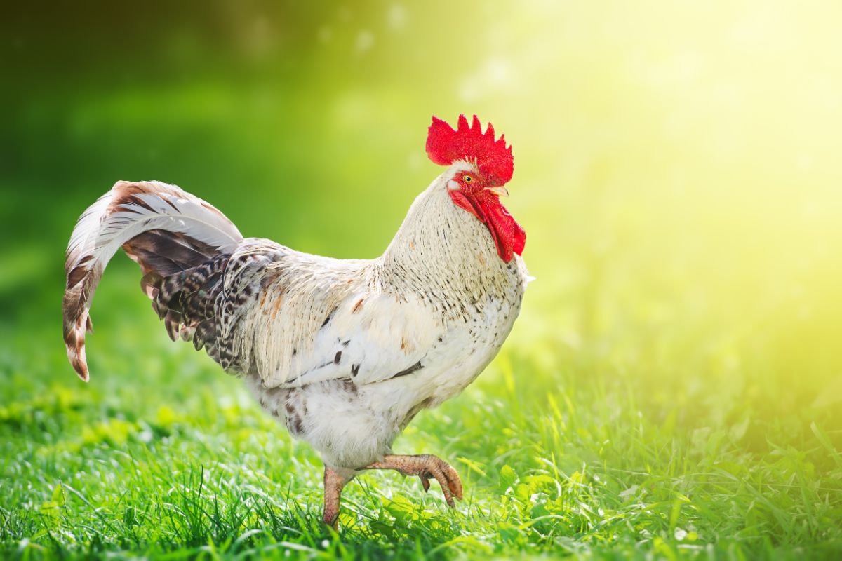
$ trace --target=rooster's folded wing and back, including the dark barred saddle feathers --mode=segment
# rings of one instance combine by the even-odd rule
[[[173,339],[267,388],[373,384],[424,368],[441,329],[417,296],[381,291],[371,265],[252,238],[157,283],[153,305]]]

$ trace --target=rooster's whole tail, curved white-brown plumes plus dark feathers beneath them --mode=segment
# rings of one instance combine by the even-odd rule
[[[141,287],[169,336],[206,346],[218,361],[212,310],[227,258],[240,241],[224,214],[174,185],[117,182],[82,214],[67,246],[64,340],[79,377],[89,377],[85,331],[92,331],[93,292],[121,246],[141,266]]]

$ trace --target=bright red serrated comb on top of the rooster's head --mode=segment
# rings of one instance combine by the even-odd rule
[[[456,130],[438,117],[433,117],[433,124],[429,125],[427,133],[427,156],[440,166],[450,166],[457,160],[476,162],[479,171],[497,185],[509,183],[514,172],[512,147],[506,148],[505,135],[494,140],[491,123],[488,123],[488,129],[483,135],[477,115],[474,115],[471,126],[468,126],[465,115],[459,115]]]

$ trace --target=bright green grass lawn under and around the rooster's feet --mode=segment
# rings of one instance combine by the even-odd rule
[[[397,442],[453,463],[457,510],[435,485],[365,474],[333,533],[318,458],[237,379],[167,340],[128,267],[113,275],[93,310],[90,384],[45,350],[57,320],[3,333],[3,557],[842,554],[838,415],[765,417],[756,390],[706,401],[722,378],[657,390],[651,363],[516,336]]]

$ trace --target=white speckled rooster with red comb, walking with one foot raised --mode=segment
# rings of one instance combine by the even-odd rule
[[[381,257],[343,260],[243,238],[219,210],[155,181],[120,181],[82,214],[67,246],[67,357],[88,381],[93,292],[122,246],[170,338],[241,377],[261,407],[324,462],[323,520],[369,469],[435,479],[450,507],[456,470],[392,454],[418,411],[459,394],[497,354],[528,279],[525,232],[500,203],[514,172],[504,136],[474,115],[433,118],[426,150],[445,172],[418,195]]]

